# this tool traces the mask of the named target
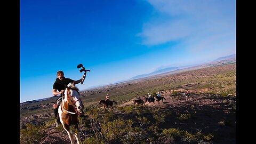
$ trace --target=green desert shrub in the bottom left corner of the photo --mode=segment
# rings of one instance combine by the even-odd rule
[[[27,123],[26,128],[20,130],[20,143],[40,143],[45,135],[44,125]]]

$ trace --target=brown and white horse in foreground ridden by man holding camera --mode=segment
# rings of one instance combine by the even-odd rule
[[[73,85],[69,84],[66,86],[65,90],[65,98],[63,99],[60,104],[60,107],[58,109],[59,117],[60,117],[60,122],[63,126],[63,129],[68,133],[68,137],[71,141],[71,144],[75,143],[74,140],[74,132],[70,131],[70,126],[74,125],[75,128],[77,129],[77,132],[75,132],[75,137],[77,140],[77,143],[79,144],[78,140],[78,120],[77,116],[83,116],[84,111],[84,105],[82,100],[80,99],[80,93],[78,88]]]

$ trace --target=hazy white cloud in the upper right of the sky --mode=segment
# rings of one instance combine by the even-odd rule
[[[218,45],[216,42],[223,44],[225,39],[235,39],[235,1],[148,2],[159,15],[146,22],[138,34],[142,44],[159,45],[182,39],[187,46],[196,45],[191,49],[207,49],[209,45]]]

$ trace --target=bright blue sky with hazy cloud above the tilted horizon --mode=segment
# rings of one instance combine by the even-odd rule
[[[20,102],[51,97],[57,71],[80,90],[236,53],[236,1],[20,1]]]

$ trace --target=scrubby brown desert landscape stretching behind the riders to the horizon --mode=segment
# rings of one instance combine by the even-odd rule
[[[236,143],[236,63],[225,62],[81,91],[86,116],[79,119],[82,143]],[[186,100],[187,90],[192,98]],[[147,93],[158,92],[163,102],[134,105],[137,94],[145,102]],[[118,103],[115,111],[103,112],[99,105],[107,93]],[[27,140],[22,135],[27,124],[43,126],[37,128],[44,131],[37,143],[70,143],[62,126],[54,126],[55,99],[20,103],[21,143]],[[106,127],[111,124],[118,129]]]

